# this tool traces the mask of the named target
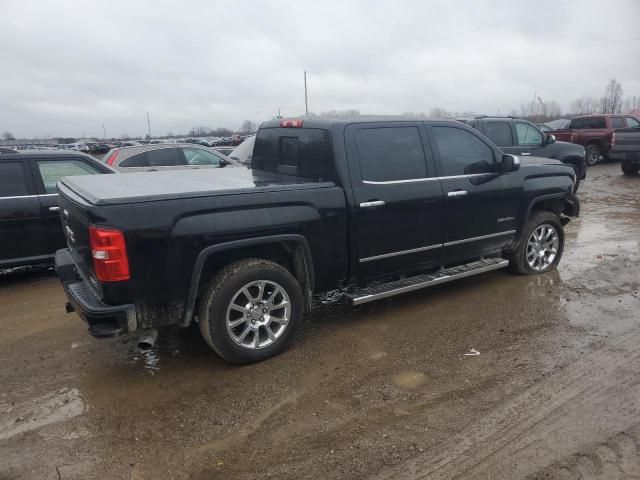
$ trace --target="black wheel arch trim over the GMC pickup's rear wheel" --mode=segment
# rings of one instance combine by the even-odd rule
[[[315,274],[307,239],[299,234],[269,235],[211,245],[198,254],[191,274],[182,326],[188,326],[193,320],[196,300],[206,280],[223,266],[249,257],[273,260],[289,270],[300,283],[305,311],[309,310]]]

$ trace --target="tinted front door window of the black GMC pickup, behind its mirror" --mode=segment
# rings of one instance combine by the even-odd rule
[[[493,171],[493,149],[471,132],[455,127],[433,127],[442,175],[445,177]]]

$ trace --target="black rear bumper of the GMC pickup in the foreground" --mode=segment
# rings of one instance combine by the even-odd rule
[[[55,269],[67,295],[67,312],[76,312],[97,338],[114,337],[136,329],[135,307],[131,304],[106,305],[89,282],[77,273],[69,250],[58,250]]]

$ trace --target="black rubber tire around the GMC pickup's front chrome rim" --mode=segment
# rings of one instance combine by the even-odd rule
[[[543,226],[551,227],[555,231],[558,243],[553,260],[550,261],[548,265],[545,265],[544,268],[536,269],[530,265],[527,258],[528,253],[530,253],[530,251],[528,251],[529,242],[532,239],[534,232],[538,232]],[[531,248],[535,249],[535,247]],[[509,269],[513,273],[517,273],[519,275],[537,275],[540,273],[546,273],[558,266],[563,251],[564,228],[562,227],[562,223],[558,216],[551,212],[535,212],[531,215],[524,228],[522,239],[518,244],[518,247],[514,252],[508,255]]]

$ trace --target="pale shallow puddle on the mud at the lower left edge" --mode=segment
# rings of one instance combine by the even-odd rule
[[[0,405],[0,440],[82,415],[85,404],[77,388],[63,388],[20,405]]]

